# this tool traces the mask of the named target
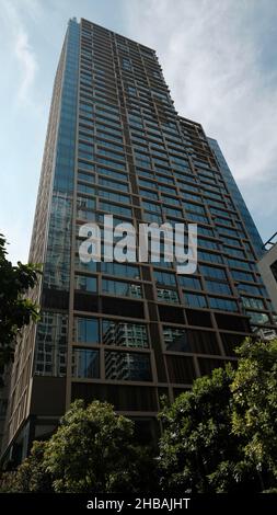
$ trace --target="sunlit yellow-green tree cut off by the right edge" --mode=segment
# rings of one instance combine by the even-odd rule
[[[231,385],[232,430],[265,489],[277,483],[277,340],[246,340],[238,354]]]

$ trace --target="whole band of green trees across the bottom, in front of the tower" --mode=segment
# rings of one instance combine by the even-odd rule
[[[194,381],[160,413],[159,453],[137,447],[113,407],[76,401],[1,491],[255,493],[277,491],[277,341],[245,341],[239,363]]]

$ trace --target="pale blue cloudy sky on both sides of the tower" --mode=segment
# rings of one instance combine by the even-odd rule
[[[0,0],[0,231],[10,259],[27,260],[54,76],[71,16],[157,50],[180,114],[218,139],[269,238],[277,230],[276,0]]]

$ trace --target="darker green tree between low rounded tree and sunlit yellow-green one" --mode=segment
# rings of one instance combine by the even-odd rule
[[[257,481],[240,438],[232,433],[234,375],[231,365],[215,369],[163,409],[159,456],[163,490],[234,492],[249,490]]]

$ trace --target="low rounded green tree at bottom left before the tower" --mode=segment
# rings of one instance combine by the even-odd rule
[[[124,493],[157,490],[153,449],[134,444],[134,422],[106,402],[79,400],[47,442],[0,478],[0,492]]]

